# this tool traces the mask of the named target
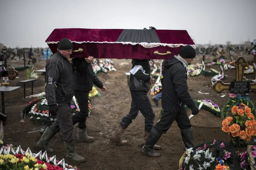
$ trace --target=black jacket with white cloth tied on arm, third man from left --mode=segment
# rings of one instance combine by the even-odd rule
[[[133,59],[131,61],[132,69],[130,71],[129,89],[131,95],[145,95],[149,92],[150,64],[149,60]]]

